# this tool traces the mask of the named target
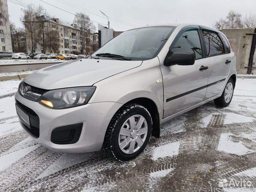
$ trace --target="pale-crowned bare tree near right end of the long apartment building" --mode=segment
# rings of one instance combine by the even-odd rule
[[[95,30],[95,26],[93,22],[90,20],[90,17],[82,12],[76,13],[74,21],[73,21],[80,30],[80,38],[81,38],[81,53],[86,48],[86,38],[88,38],[87,30]]]

